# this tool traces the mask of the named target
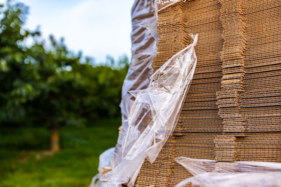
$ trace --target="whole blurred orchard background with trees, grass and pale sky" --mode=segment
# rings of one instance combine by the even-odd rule
[[[0,186],[89,186],[115,146],[133,1],[0,0]]]

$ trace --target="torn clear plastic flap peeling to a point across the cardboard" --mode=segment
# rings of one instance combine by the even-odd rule
[[[165,62],[150,78],[148,88],[131,91],[128,128],[123,142],[122,160],[112,171],[100,177],[108,186],[128,183],[133,186],[145,158],[154,162],[174,131],[183,99],[192,81],[197,57],[193,43]],[[141,123],[148,123],[142,129]]]

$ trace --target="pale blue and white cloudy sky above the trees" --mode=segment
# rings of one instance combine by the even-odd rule
[[[0,0],[4,2],[5,0]],[[28,29],[65,38],[70,50],[104,62],[131,55],[131,6],[133,0],[20,0],[30,6]]]

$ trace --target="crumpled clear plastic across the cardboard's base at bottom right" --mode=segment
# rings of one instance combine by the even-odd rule
[[[176,158],[193,176],[177,187],[192,183],[209,187],[281,186],[280,162],[216,162],[193,158]]]

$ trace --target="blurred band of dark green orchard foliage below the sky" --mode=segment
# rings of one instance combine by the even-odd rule
[[[0,6],[0,123],[3,126],[81,126],[119,116],[129,60],[97,65],[67,49],[63,39],[22,28],[28,8],[16,1]],[[31,46],[27,39],[33,39]]]

